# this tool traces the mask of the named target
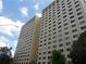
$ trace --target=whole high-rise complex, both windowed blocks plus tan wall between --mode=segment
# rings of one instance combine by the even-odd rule
[[[41,20],[41,21],[40,21]],[[86,30],[86,13],[81,0],[54,0],[42,10],[42,17],[34,17],[21,30],[15,64],[51,64],[57,49],[66,57],[71,46]]]

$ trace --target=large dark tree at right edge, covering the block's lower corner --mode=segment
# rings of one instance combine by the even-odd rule
[[[77,41],[73,43],[70,57],[73,64],[86,64],[86,31],[81,34]]]

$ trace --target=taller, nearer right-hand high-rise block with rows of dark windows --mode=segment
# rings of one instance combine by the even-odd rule
[[[71,46],[86,30],[86,13],[81,0],[54,0],[42,11],[38,64],[51,63],[51,51],[60,50],[70,63]]]

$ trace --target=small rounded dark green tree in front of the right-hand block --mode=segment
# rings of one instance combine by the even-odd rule
[[[52,64],[65,64],[65,57],[60,51],[53,50],[51,56]]]

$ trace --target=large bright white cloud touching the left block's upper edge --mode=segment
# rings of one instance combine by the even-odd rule
[[[24,23],[22,23],[21,21],[14,22],[11,18],[0,16],[0,33],[13,36],[13,31],[16,34],[20,33],[23,24]]]

